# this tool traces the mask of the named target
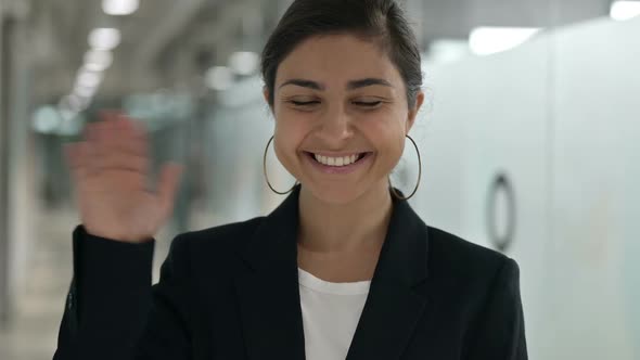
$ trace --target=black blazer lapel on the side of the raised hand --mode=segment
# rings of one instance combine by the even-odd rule
[[[297,279],[297,185],[263,221],[242,250],[248,265],[236,277],[249,359],[305,359]]]

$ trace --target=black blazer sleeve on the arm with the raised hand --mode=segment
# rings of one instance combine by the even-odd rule
[[[154,241],[74,231],[74,279],[53,360],[190,358],[187,242],[178,236],[151,286]]]

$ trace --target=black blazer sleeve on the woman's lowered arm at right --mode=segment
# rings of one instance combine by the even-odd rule
[[[469,359],[526,360],[525,323],[520,296],[520,268],[507,258],[481,310]]]

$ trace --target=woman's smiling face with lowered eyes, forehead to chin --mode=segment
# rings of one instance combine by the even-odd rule
[[[276,154],[325,202],[386,191],[422,100],[419,93],[408,107],[400,73],[376,43],[350,35],[310,38],[278,67]]]

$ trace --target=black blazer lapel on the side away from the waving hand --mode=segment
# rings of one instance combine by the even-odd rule
[[[394,213],[347,360],[399,359],[427,297],[427,228],[406,201]]]

